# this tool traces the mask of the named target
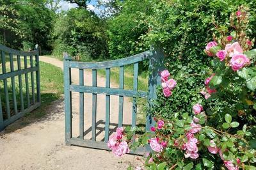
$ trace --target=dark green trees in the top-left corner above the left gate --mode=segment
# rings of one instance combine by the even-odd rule
[[[46,7],[46,1],[0,1],[1,43],[15,49],[23,49],[22,42],[51,50],[51,30],[54,12]]]

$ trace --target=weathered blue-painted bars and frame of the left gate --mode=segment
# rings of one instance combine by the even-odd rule
[[[24,114],[26,112],[31,112],[34,109],[36,109],[37,107],[40,106],[40,79],[39,79],[39,58],[38,58],[38,50],[33,50],[31,52],[22,52],[19,50],[14,50],[14,49],[10,49],[4,45],[0,45],[0,51],[1,51],[1,60],[2,60],[2,73],[0,74],[0,80],[3,80],[4,82],[4,98],[5,98],[5,103],[6,103],[6,107],[5,107],[5,111],[7,113],[7,118],[4,118],[3,115],[3,105],[0,102],[0,130],[3,130],[4,127],[10,125],[10,123],[12,123],[13,121],[21,118],[22,116],[24,116]],[[10,72],[6,72],[6,54],[8,54],[9,58],[10,58]],[[14,65],[13,65],[13,56],[17,56],[17,65],[18,68],[17,70],[15,70]],[[24,56],[24,67],[25,68],[21,68],[21,62],[20,62],[20,56]],[[28,63],[27,63],[27,57],[26,56],[37,56],[36,57],[36,66],[33,66],[33,62],[31,62],[31,67],[28,68]],[[29,101],[29,93],[27,93],[28,91],[28,73],[31,73],[31,87],[33,88],[33,76],[32,73],[33,72],[38,72],[36,75],[36,84],[39,84],[39,86],[37,86],[37,101],[34,102],[35,100],[33,100],[33,104],[30,105],[28,102],[28,105],[24,106],[24,97],[23,97],[23,90],[22,90],[22,75],[25,74],[25,79],[26,79],[26,98]],[[20,93],[20,110],[17,107],[17,94],[15,91],[15,76],[19,77],[19,93]],[[8,91],[8,86],[7,86],[7,80],[10,78],[11,79],[11,86],[12,86],[12,104],[13,107],[10,108],[10,99],[9,99],[9,94],[11,93],[11,91]],[[35,93],[33,95],[32,92],[32,97],[35,98]],[[1,97],[0,97],[0,101],[1,101]],[[15,113],[14,115],[11,115],[11,109],[13,109],[13,112]]]

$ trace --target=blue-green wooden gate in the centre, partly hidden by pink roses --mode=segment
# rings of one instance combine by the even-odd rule
[[[65,141],[66,144],[85,146],[89,148],[98,148],[109,150],[107,142],[109,139],[109,114],[110,114],[110,95],[119,96],[118,127],[123,125],[123,105],[124,97],[132,97],[132,127],[136,126],[137,102],[136,98],[147,98],[149,104],[156,98],[156,86],[161,83],[159,72],[163,70],[164,54],[162,50],[152,49],[134,56],[117,59],[115,61],[104,61],[99,63],[84,63],[72,61],[67,53],[64,57],[64,81],[65,81]],[[149,60],[148,91],[138,90],[138,68],[139,62]],[[133,89],[124,89],[124,67],[125,65],[134,65]],[[111,68],[119,67],[119,88],[110,88]],[[79,85],[72,84],[71,68],[79,69]],[[97,87],[97,69],[106,69],[106,87]],[[84,69],[92,69],[92,86],[84,86]],[[72,136],[72,92],[79,92],[79,137]],[[84,93],[92,93],[92,139],[84,139]],[[104,141],[96,141],[96,116],[97,116],[97,94],[106,95],[106,120]],[[116,113],[117,114],[117,113]],[[152,118],[148,114],[146,120],[146,130],[150,130]],[[117,122],[116,122],[117,123]]]

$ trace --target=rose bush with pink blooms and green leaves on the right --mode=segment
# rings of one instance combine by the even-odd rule
[[[152,151],[145,155],[146,169],[256,169],[256,50],[254,39],[246,36],[248,16],[241,6],[231,14],[230,27],[214,21],[218,35],[205,47],[212,68],[200,91],[205,102],[199,100],[191,112],[175,112],[168,120],[154,112],[151,132],[136,134],[141,132],[138,127],[122,128],[125,140],[111,138],[109,148],[120,156],[129,151],[127,145],[136,149],[149,144]],[[165,98],[179,84],[169,77],[167,70],[161,72]],[[216,109],[218,102],[230,100],[231,109]],[[120,143],[126,148],[121,144],[116,151]]]

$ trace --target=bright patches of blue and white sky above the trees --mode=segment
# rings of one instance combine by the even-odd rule
[[[108,2],[109,0],[101,0],[101,1]],[[87,8],[88,8],[88,10],[92,10],[95,13],[99,14],[100,9],[97,8],[95,5],[97,5],[97,0],[92,0],[92,1],[90,1],[90,3],[87,4],[87,6],[88,6]],[[61,6],[61,10],[67,11],[67,10],[70,10],[71,8],[76,8],[77,4],[71,4],[71,3],[68,3],[67,1],[61,0],[60,6]]]

